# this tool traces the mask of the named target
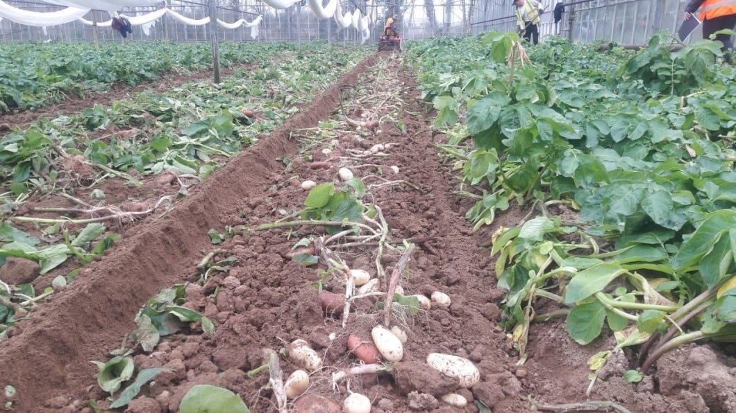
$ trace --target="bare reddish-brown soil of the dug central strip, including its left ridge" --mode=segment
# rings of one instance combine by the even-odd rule
[[[385,65],[390,58],[382,54],[361,62],[305,112],[195,188],[166,218],[136,228],[135,237],[125,240],[102,262],[85,267],[85,276],[21,323],[22,332],[0,347],[0,385],[13,384],[18,389],[15,408],[21,412],[91,412],[85,407],[88,400],[107,403],[107,395],[96,385],[96,367],[88,360],[109,358],[107,351],[119,347],[124,334],[135,328],[133,317],[147,298],[172,284],[196,281],[191,276],[194,266],[214,249],[208,229],[254,226],[283,218],[285,212],[302,208],[305,198],[305,192],[291,182],[337,182],[339,162],[352,167],[369,184],[366,201],[383,209],[392,229],[389,239],[397,243],[410,238],[419,246],[409,265],[410,276],[402,281],[407,293],[429,295],[439,290],[452,299],[449,309],[433,306],[429,312],[398,320],[409,338],[393,376],[350,380],[351,391],[372,399],[372,412],[408,412],[411,406],[432,412],[478,412],[476,402],[481,401],[493,412],[514,413],[528,410],[530,396],[548,404],[586,401],[589,371],[585,362],[592,354],[612,348],[612,337],[581,347],[559,321],[534,324],[528,361],[517,367],[510,340],[496,326],[503,291],[495,288],[493,259],[479,244],[495,227],[516,225],[526,212],[509,209],[493,228],[470,233],[464,212],[473,201],[452,195],[453,173],[428,147],[440,137],[430,132],[427,119],[431,115],[423,112],[424,104],[412,87],[414,73],[403,68],[394,72],[369,68],[374,63]],[[380,73],[386,77],[376,79]],[[368,93],[379,92],[381,87],[403,87],[406,104],[400,120],[406,132],[386,124],[381,125],[382,134],[367,137],[370,144],[401,145],[389,151],[391,157],[357,163],[341,161],[333,152],[330,169],[310,169],[297,154],[298,143],[289,140],[289,132],[331,118],[340,92],[349,94],[359,76],[369,85]],[[370,110],[372,107],[364,107],[365,112]],[[389,109],[381,109],[381,114],[387,112]],[[350,138],[345,143],[358,147]],[[320,150],[313,148],[310,154],[325,159]],[[275,160],[280,156],[294,159],[293,170],[284,171],[283,163]],[[376,168],[355,168],[367,163],[381,165],[383,173]],[[396,176],[391,165],[400,168]],[[378,187],[384,182],[381,178],[403,179],[418,189],[407,184]],[[205,383],[238,392],[253,412],[274,411],[275,399],[265,388],[267,373],[248,379],[246,372],[263,364],[263,348],[277,351],[297,338],[307,340],[327,367],[312,375],[311,387],[294,405],[300,412],[339,412],[347,388],[343,381],[334,391],[330,377],[335,369],[355,365],[355,358],[346,350],[347,334],[368,338],[370,328],[381,323],[382,312],[375,302],[358,301],[346,329],[339,317],[322,312],[313,287],[319,278],[316,269],[286,258],[297,240],[318,232],[311,227],[250,232],[218,245],[224,251],[219,257],[235,256],[238,264],[227,274],[212,276],[203,287],[189,284],[185,304],[210,317],[216,333],[209,337],[193,326],[191,334],[166,337],[151,354],[136,353],[137,369],[166,366],[174,371],[155,378],[155,385],[145,387],[128,412],[177,411],[185,392]],[[375,257],[375,248],[370,246],[339,251],[350,267],[369,268]],[[398,256],[393,252],[384,255],[382,262],[389,273]],[[328,290],[342,292],[335,278],[326,283]],[[330,333],[336,333],[334,340]],[[469,402],[465,408],[450,408],[437,400],[456,384],[425,366],[432,352],[466,357],[480,370],[480,383],[457,391]],[[630,359],[629,353],[612,357],[590,400],[620,403],[631,412],[705,413],[736,408],[732,358],[705,346],[687,347],[662,357],[659,370],[639,384],[621,378],[631,368]],[[285,376],[297,368],[288,361],[281,367]]]

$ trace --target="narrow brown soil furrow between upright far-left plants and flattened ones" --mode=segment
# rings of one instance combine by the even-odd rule
[[[238,69],[247,69],[259,65],[258,62],[243,63],[233,65],[229,68],[220,70],[221,76],[228,76],[230,73]],[[185,84],[186,82],[197,82],[205,79],[211,79],[213,71],[211,69],[205,71],[195,71],[192,73],[166,73],[158,80],[152,83],[145,83],[138,86],[114,85],[111,90],[105,93],[85,92],[82,96],[69,94],[68,98],[56,104],[43,106],[35,110],[17,110],[15,112],[0,113],[0,123],[7,123],[11,129],[26,129],[28,126],[39,118],[54,119],[62,115],[72,115],[82,112],[83,109],[93,107],[96,104],[110,106],[114,101],[124,101],[130,98],[133,93],[140,93],[144,90],[153,90],[155,92],[165,92],[174,87]],[[0,137],[10,132],[10,129],[0,129]]]

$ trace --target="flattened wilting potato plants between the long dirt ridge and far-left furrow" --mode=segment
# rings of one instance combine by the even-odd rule
[[[20,257],[36,262],[44,274],[70,257],[82,265],[90,262],[119,240],[114,234],[98,240],[106,231],[105,221],[150,215],[188,195],[191,184],[298,112],[300,104],[311,101],[367,51],[352,49],[337,58],[333,49],[308,57],[280,53],[293,58],[264,60],[220,85],[188,83],[166,93],[139,93],[110,107],[96,105],[77,115],[42,118],[1,138],[0,265],[7,257]],[[119,204],[124,200],[99,188],[108,178],[142,187],[146,176],[158,176],[155,184],[175,185],[176,196]],[[34,204],[20,215],[30,201],[43,206]],[[68,201],[75,206],[55,205]],[[63,287],[74,275],[57,277],[56,284]],[[52,292],[36,296],[29,284],[0,287],[0,334]]]

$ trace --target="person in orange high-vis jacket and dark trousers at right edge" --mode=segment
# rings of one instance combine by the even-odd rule
[[[685,7],[685,20],[692,17],[696,10],[700,10],[698,17],[703,22],[704,39],[710,38],[718,30],[733,30],[736,27],[736,0],[690,0]],[[721,50],[725,52],[723,57],[726,62],[731,62],[734,49],[731,35],[715,35],[715,40],[721,40]]]

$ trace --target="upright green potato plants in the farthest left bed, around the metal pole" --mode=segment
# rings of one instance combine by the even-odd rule
[[[220,45],[220,63],[231,65],[270,60],[291,43]],[[115,85],[153,82],[166,73],[186,77],[212,67],[208,43],[85,43],[0,45],[0,115],[35,109],[69,96],[104,93]],[[1,118],[0,118],[1,120]]]

